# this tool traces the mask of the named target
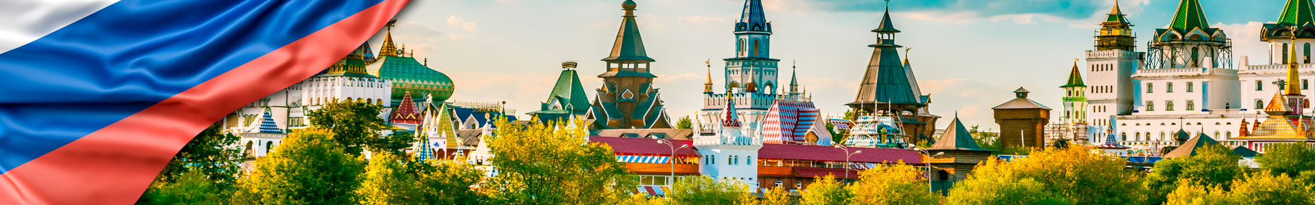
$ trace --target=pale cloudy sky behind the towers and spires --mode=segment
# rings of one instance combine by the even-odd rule
[[[416,0],[398,16],[393,38],[456,83],[456,100],[508,101],[518,114],[547,99],[560,62],[579,60],[588,91],[598,88],[621,24],[622,0]],[[732,24],[743,0],[635,0],[652,72],[668,113],[701,106],[705,59],[734,55]],[[763,0],[772,21],[772,58],[798,62],[800,84],[830,114],[853,100],[881,17],[880,0]],[[1257,33],[1278,18],[1282,0],[1201,0],[1211,26],[1233,39],[1233,59],[1260,57]],[[1060,108],[1074,58],[1093,46],[1093,30],[1114,0],[893,0],[897,43],[910,60],[931,112],[998,130],[992,106],[1026,87]],[[1172,20],[1178,0],[1122,0],[1136,25],[1137,51]],[[379,33],[371,45],[383,42]],[[376,47],[377,50],[377,47]],[[903,54],[901,54],[903,55]],[[1239,62],[1235,62],[1239,63]],[[714,70],[721,67],[715,67]],[[782,66],[782,70],[788,67]],[[714,71],[715,72],[715,71]],[[713,81],[722,81],[713,75]],[[1085,74],[1084,74],[1085,76]],[[782,78],[781,81],[788,79]],[[1056,112],[1057,113],[1057,112]],[[940,121],[944,127],[949,120]]]

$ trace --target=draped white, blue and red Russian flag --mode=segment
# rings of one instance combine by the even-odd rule
[[[196,133],[409,0],[3,0],[0,204],[133,204]]]

